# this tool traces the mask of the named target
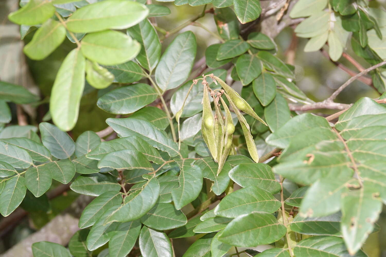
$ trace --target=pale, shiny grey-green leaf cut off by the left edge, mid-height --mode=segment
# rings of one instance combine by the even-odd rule
[[[26,169],[32,165],[31,156],[27,151],[2,141],[0,141],[0,161],[21,169]]]

